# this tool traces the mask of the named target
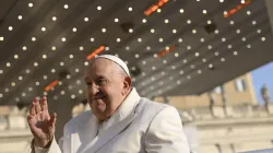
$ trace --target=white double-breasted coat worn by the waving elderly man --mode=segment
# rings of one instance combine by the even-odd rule
[[[98,123],[88,110],[64,126],[63,143],[35,153],[190,153],[173,106],[140,97],[133,89],[118,110]]]

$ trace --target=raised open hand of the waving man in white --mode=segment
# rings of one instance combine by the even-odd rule
[[[39,148],[46,148],[55,134],[57,115],[49,116],[47,98],[36,97],[29,105],[27,122],[34,136],[34,143]]]

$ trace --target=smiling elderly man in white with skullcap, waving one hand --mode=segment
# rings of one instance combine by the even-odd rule
[[[178,111],[140,97],[126,63],[110,55],[94,58],[85,72],[91,111],[71,119],[57,144],[57,115],[35,98],[27,121],[35,153],[189,153]]]

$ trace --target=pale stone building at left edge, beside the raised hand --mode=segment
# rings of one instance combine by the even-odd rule
[[[26,107],[0,107],[0,153],[28,153],[32,133],[26,122]]]

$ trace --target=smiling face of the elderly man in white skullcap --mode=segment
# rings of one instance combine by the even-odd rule
[[[87,99],[98,120],[109,118],[122,103],[131,85],[128,79],[118,73],[117,64],[110,60],[98,58],[91,63],[85,73]]]

